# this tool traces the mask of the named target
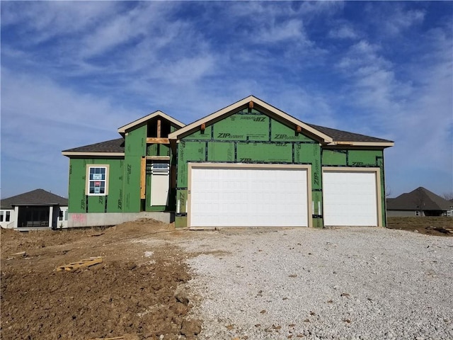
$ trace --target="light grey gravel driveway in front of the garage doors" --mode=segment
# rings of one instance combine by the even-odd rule
[[[197,255],[199,339],[453,339],[453,238],[382,228],[222,229]]]

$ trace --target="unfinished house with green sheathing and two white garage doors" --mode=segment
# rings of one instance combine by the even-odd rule
[[[184,125],[156,111],[69,157],[69,227],[384,226],[384,149],[254,96]]]

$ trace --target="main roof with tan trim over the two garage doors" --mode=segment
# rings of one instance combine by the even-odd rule
[[[376,137],[358,135],[352,132],[340,131],[331,128],[324,128],[319,125],[304,123],[302,120],[298,120],[297,118],[292,117],[292,115],[288,115],[287,113],[271,106],[268,103],[265,103],[255,96],[243,98],[230,106],[226,106],[226,108],[222,108],[221,110],[207,115],[200,120],[196,120],[194,123],[186,125],[184,128],[171,133],[168,135],[168,138],[171,140],[180,140],[181,138],[200,130],[202,126],[215,123],[248,107],[256,108],[258,111],[269,115],[271,118],[280,120],[280,122],[285,123],[285,125],[292,125],[294,130],[298,130],[297,132],[302,132],[304,135],[312,137],[324,145],[357,145],[377,147],[391,147],[394,145],[394,142],[389,140],[382,140]]]

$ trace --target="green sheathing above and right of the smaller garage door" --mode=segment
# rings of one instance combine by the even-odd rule
[[[378,167],[381,174],[381,206],[382,224],[386,226],[385,209],[385,175],[383,150],[349,150],[349,149],[324,149],[322,152],[323,166],[349,166],[357,168]]]

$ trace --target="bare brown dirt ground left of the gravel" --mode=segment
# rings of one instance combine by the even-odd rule
[[[195,339],[201,322],[188,317],[193,303],[180,289],[190,279],[186,254],[165,242],[180,233],[154,220],[1,229],[1,339]],[[55,270],[91,256],[103,262]]]

